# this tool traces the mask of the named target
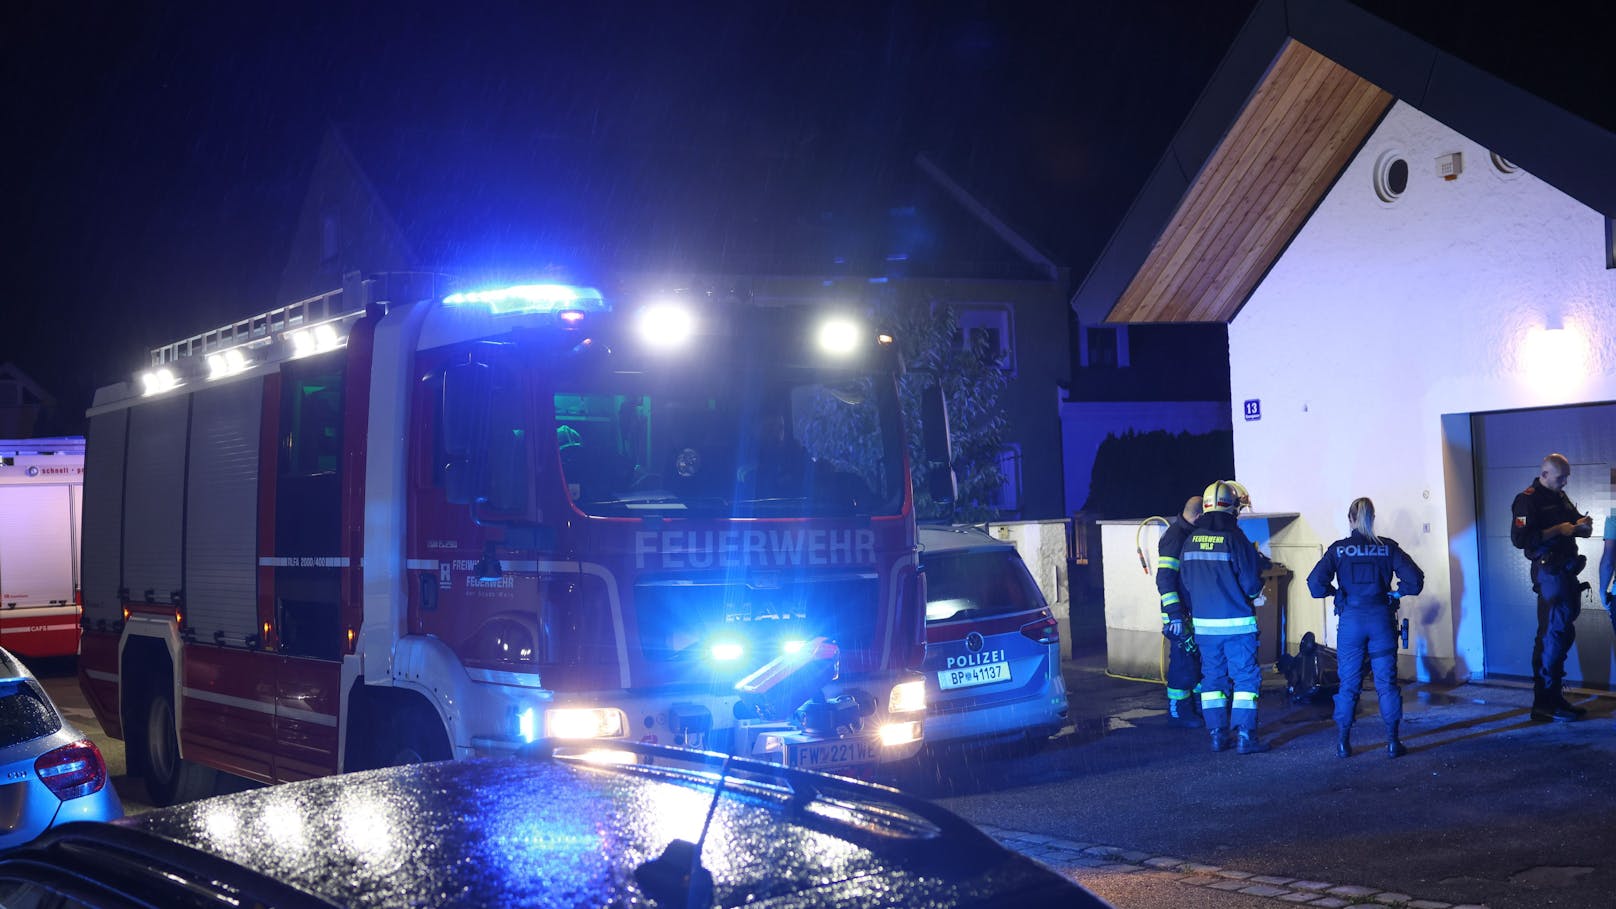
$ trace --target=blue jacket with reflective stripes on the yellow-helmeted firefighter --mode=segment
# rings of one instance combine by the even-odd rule
[[[1251,598],[1262,592],[1262,566],[1233,514],[1202,514],[1178,560],[1180,586],[1196,607],[1197,636],[1257,632]]]

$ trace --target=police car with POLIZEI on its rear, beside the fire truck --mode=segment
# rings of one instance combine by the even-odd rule
[[[921,527],[926,741],[1041,744],[1067,723],[1055,616],[1015,547]]]

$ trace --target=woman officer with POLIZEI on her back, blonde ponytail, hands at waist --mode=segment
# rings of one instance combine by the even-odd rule
[[[1380,695],[1380,721],[1387,725],[1387,757],[1403,757],[1408,749],[1398,741],[1403,689],[1398,687],[1396,600],[1419,594],[1425,574],[1396,540],[1375,535],[1374,501],[1354,498],[1346,509],[1346,522],[1353,534],[1330,543],[1307,574],[1312,595],[1320,600],[1335,595],[1335,615],[1340,616],[1335,631],[1341,666],[1341,691],[1335,695],[1335,726],[1340,731],[1335,754],[1353,755],[1353,718],[1364,687],[1367,650],[1375,694]],[[1391,589],[1393,576],[1396,590]]]

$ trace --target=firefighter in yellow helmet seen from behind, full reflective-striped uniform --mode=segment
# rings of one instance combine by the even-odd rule
[[[1269,744],[1257,738],[1257,613],[1252,597],[1262,592],[1257,547],[1239,529],[1239,492],[1218,480],[1201,497],[1204,514],[1185,540],[1180,586],[1194,605],[1196,647],[1201,650],[1201,713],[1212,733],[1212,750],[1230,746],[1257,754]],[[1225,694],[1233,683],[1233,705]]]

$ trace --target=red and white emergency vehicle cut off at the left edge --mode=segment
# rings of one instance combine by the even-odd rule
[[[0,440],[0,647],[79,652],[84,438]]]

